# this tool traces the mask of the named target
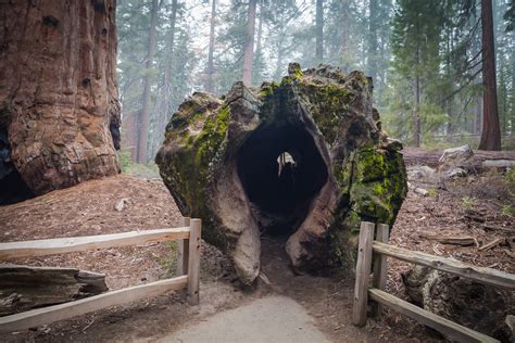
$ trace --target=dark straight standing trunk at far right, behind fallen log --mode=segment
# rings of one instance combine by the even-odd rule
[[[480,150],[501,150],[495,53],[493,40],[492,0],[481,0],[482,25],[482,134]]]

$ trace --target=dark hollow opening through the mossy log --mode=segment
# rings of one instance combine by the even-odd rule
[[[280,163],[282,153],[293,161]],[[303,126],[292,124],[259,127],[238,152],[237,167],[258,209],[261,230],[272,236],[298,229],[328,177],[312,136]]]

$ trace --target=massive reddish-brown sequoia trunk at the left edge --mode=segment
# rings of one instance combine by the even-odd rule
[[[1,1],[0,25],[0,203],[118,173],[115,0]]]

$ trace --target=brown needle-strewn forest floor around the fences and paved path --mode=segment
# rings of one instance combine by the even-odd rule
[[[515,204],[499,173],[452,182],[419,180],[414,183],[430,190],[430,196],[409,193],[392,229],[392,244],[515,272],[510,246],[497,245],[479,252],[477,245],[444,245],[424,238],[439,233],[472,236],[482,245],[495,238],[513,236],[510,230],[515,227],[515,218],[506,208]],[[126,199],[126,205],[118,212],[115,205],[122,199]],[[472,217],[483,218],[487,226]],[[178,225],[179,218],[161,180],[120,175],[0,207],[0,242],[173,227]],[[104,272],[108,287],[114,290],[169,277],[175,268],[171,258],[175,250],[173,243],[162,243],[15,263]],[[405,297],[400,274],[407,268],[404,263],[389,263],[387,290],[390,293]],[[350,320],[353,276],[294,275],[280,239],[263,238],[262,271],[268,282],[241,287],[230,262],[208,244],[203,244],[201,270],[200,306],[191,307],[184,294],[172,293],[14,332],[0,341],[166,341],[172,332],[210,320],[214,314],[269,296],[287,296],[300,304],[330,341],[440,341],[435,332],[388,309],[380,321],[368,320],[362,329],[353,327]]]

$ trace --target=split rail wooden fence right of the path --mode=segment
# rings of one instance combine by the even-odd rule
[[[373,301],[370,304],[373,316],[379,317],[381,306],[385,305],[459,342],[499,342],[486,334],[465,328],[386,293],[387,256],[511,291],[515,290],[515,275],[492,268],[470,266],[455,259],[390,245],[387,243],[389,227],[384,224],[377,225],[377,232],[375,231],[374,223],[363,221],[361,224],[352,313],[352,322],[355,326],[361,327],[366,323],[368,298],[370,298]],[[373,261],[372,288],[368,288]]]

